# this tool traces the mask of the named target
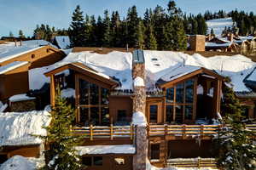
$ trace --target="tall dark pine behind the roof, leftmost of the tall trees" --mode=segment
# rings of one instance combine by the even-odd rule
[[[86,40],[84,37],[84,16],[78,5],[73,12],[72,23],[70,25],[69,37],[72,47],[83,47]]]

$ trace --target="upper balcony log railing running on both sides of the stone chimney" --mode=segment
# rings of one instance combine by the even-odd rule
[[[223,125],[149,125],[148,137],[172,139],[212,139],[218,135]],[[246,125],[247,129],[256,133],[256,124]],[[135,128],[131,126],[92,126],[73,127],[75,135],[82,135],[85,139],[134,139]]]

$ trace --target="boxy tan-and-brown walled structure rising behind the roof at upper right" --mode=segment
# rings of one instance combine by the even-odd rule
[[[201,35],[190,36],[189,38],[190,49],[192,51],[205,51],[206,37]]]

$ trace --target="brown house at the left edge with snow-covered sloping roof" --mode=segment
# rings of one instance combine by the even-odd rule
[[[29,90],[28,70],[52,65],[65,56],[44,40],[0,44],[0,100]]]

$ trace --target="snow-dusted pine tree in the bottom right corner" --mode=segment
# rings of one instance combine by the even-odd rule
[[[229,83],[228,80],[226,83]],[[253,145],[254,134],[241,123],[242,108],[232,88],[224,86],[224,123],[230,127],[220,130],[215,144],[218,146],[218,165],[230,170],[253,170],[256,147]],[[254,139],[255,142],[255,139]]]

